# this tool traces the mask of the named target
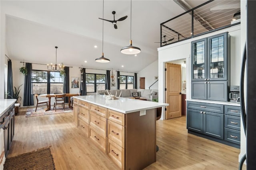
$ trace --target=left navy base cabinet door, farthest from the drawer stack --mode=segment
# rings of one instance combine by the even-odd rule
[[[203,112],[187,109],[187,128],[191,131],[203,133]]]

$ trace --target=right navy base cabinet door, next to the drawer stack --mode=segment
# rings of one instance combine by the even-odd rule
[[[204,112],[204,134],[224,139],[224,115]]]

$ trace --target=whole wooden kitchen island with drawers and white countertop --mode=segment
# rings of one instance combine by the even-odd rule
[[[168,104],[103,95],[74,96],[74,123],[121,169],[156,161],[156,108]]]

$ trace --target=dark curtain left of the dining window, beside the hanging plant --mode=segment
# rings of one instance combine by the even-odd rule
[[[32,64],[26,63],[26,68],[28,69],[28,75],[25,76],[25,81],[24,81],[23,106],[34,106],[33,88],[31,83]]]

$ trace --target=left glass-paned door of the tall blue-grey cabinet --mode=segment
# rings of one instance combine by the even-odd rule
[[[192,80],[205,80],[206,71],[206,39],[192,42]]]

